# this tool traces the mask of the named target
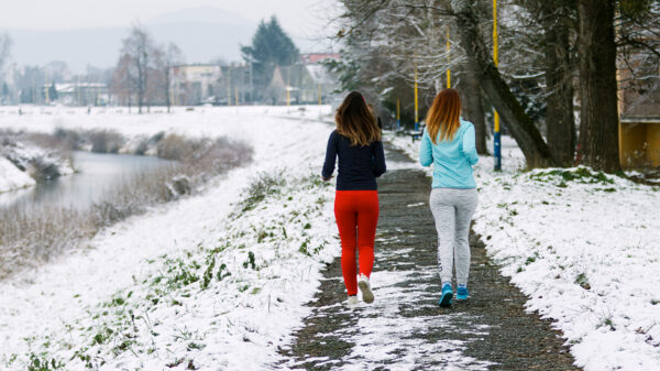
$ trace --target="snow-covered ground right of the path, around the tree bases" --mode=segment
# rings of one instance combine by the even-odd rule
[[[413,159],[419,142],[389,139]],[[482,156],[474,230],[586,370],[660,370],[660,188],[587,168],[503,172]],[[430,174],[430,170],[429,174]]]

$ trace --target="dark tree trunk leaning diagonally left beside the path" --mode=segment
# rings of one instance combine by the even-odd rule
[[[508,85],[491,58],[490,48],[479,34],[479,19],[466,0],[452,0],[459,33],[468,59],[473,63],[482,81],[482,88],[497,109],[508,130],[525,154],[528,167],[554,165],[548,145],[534,122],[512,94]]]

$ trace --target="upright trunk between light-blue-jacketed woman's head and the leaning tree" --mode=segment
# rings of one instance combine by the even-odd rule
[[[486,116],[482,101],[482,89],[472,64],[466,63],[461,74],[459,90],[463,96],[465,118],[474,124],[476,153],[488,154],[486,145]]]

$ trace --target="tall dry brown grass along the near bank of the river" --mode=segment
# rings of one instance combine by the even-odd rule
[[[169,150],[187,149],[172,166],[125,178],[88,209],[16,205],[0,209],[0,280],[74,249],[99,230],[150,207],[195,194],[205,182],[252,160],[252,149],[224,138],[191,140],[164,135]],[[175,144],[178,143],[178,144]]]

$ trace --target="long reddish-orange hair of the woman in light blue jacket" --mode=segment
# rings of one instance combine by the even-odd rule
[[[461,97],[455,89],[440,91],[427,113],[426,124],[433,144],[440,132],[440,141],[452,141],[461,126]]]

